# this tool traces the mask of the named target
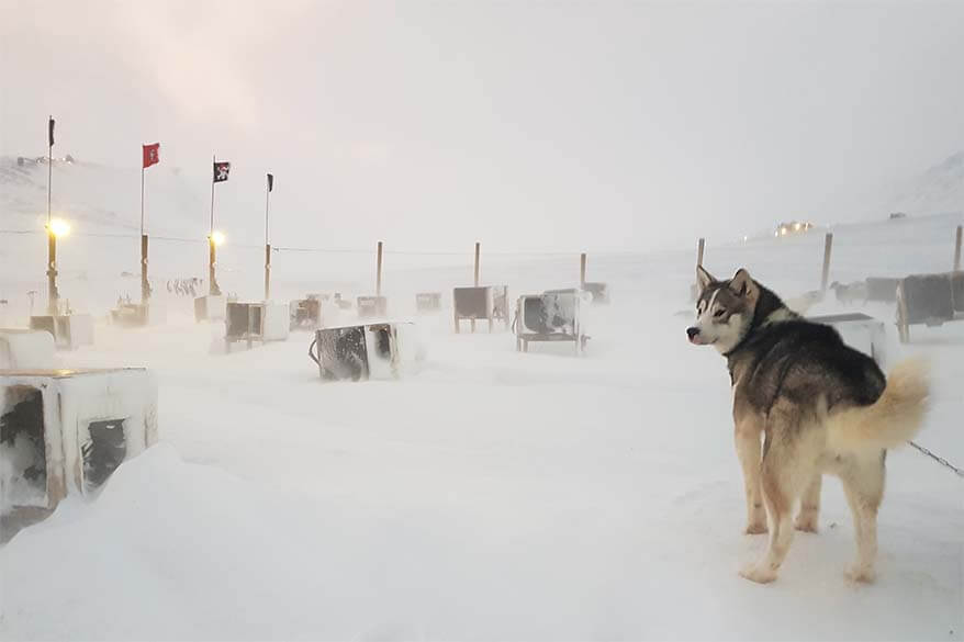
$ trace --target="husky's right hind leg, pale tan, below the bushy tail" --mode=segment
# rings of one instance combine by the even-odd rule
[[[840,475],[856,533],[856,561],[847,572],[854,582],[870,583],[876,577],[877,509],[884,498],[884,452],[878,458],[860,458]]]

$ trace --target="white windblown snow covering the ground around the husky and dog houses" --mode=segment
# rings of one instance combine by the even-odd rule
[[[839,228],[832,278],[948,270],[959,223]],[[711,246],[705,262],[793,296],[819,285],[822,243]],[[685,340],[692,264],[591,257],[614,303],[593,308],[580,359],[423,317],[428,358],[402,382],[322,383],[305,334],[217,353],[223,328],[186,301],[161,327],[99,326],[61,364],[150,367],[161,442],[0,548],[0,639],[964,640],[964,481],[910,449],[887,460],[876,584],[843,577],[836,481],[777,583],[738,576],[765,538],[742,534],[725,362]],[[514,297],[572,284],[575,266],[505,259],[483,279]],[[402,302],[470,275],[386,282]],[[863,309],[894,358],[932,357],[919,441],[964,462],[964,323],[904,347],[893,307]]]

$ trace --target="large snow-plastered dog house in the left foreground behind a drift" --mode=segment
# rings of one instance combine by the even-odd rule
[[[0,514],[88,494],[156,441],[143,368],[0,370]]]

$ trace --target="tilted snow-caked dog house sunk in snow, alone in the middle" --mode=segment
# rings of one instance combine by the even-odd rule
[[[315,330],[307,353],[326,381],[400,379],[421,357],[412,323]]]

